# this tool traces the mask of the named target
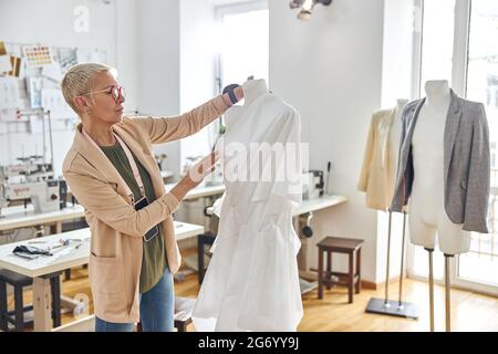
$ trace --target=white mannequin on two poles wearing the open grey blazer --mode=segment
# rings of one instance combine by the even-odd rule
[[[427,81],[412,149],[415,177],[409,200],[409,233],[414,244],[429,252],[430,330],[434,331],[433,251],[436,232],[445,256],[446,330],[449,331],[449,258],[470,247],[470,232],[449,220],[444,206],[444,133],[450,92],[447,81]]]

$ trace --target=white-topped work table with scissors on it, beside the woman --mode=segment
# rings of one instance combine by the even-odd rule
[[[195,237],[204,232],[203,226],[174,221],[175,233],[178,240]],[[70,242],[69,246],[54,249],[52,257],[40,257],[28,260],[12,253],[12,250],[20,244],[43,247],[43,244],[56,244],[60,239],[76,239],[81,242]],[[30,243],[43,241],[44,243]],[[76,248],[77,244],[81,244]],[[33,311],[34,331],[50,331],[51,320],[51,292],[50,280],[43,275],[62,271],[71,267],[77,267],[90,261],[90,229],[80,229],[63,233],[55,233],[43,238],[23,240],[20,242],[0,246],[0,268],[4,268],[27,277],[34,278],[33,281]],[[66,302],[71,302],[68,301]]]

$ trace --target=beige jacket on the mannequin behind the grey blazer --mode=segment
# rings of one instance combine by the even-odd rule
[[[366,206],[387,210],[394,194],[393,156],[390,153],[390,129],[396,108],[377,111],[372,116],[357,189],[365,191]]]

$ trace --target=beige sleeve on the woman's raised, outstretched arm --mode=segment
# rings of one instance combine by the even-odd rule
[[[132,117],[149,137],[152,144],[173,142],[199,132],[219,117],[228,106],[221,95],[185,114],[172,117]]]

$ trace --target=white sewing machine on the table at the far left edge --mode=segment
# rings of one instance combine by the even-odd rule
[[[40,156],[19,158],[24,164],[0,166],[0,211],[15,201],[33,204],[34,212],[65,207],[68,186],[53,177],[52,165],[38,163]]]

